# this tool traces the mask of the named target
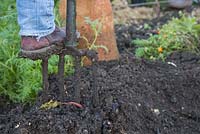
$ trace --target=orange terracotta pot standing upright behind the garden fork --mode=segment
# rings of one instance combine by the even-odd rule
[[[66,0],[60,1],[60,14],[63,19],[66,18]],[[101,33],[99,34],[95,44],[104,45],[109,52],[98,48],[98,57],[100,61],[115,60],[119,58],[117,49],[113,14],[110,0],[77,0],[77,29],[81,36],[86,37],[89,42],[94,40],[94,33],[91,27],[85,23],[85,17],[91,20],[98,19],[102,23]],[[85,48],[85,41],[80,39],[79,48]],[[87,63],[88,64],[88,63]]]

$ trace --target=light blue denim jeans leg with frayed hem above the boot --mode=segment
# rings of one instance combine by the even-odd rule
[[[17,0],[18,23],[21,36],[38,38],[55,29],[54,0]]]

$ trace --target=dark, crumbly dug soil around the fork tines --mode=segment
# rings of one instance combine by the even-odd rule
[[[84,108],[40,110],[46,99],[59,100],[51,76],[48,95],[40,93],[33,106],[0,103],[0,134],[200,134],[200,57],[176,52],[167,59],[176,66],[136,59],[130,46],[134,29],[116,27],[118,61],[81,68],[80,79],[66,78],[64,101],[74,101],[80,88]]]

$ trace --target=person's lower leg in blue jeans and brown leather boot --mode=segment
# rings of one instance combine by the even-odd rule
[[[54,0],[17,0],[21,48],[34,51],[62,42],[65,31],[55,28]]]

